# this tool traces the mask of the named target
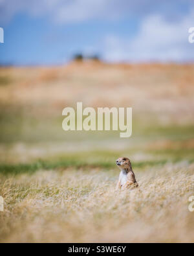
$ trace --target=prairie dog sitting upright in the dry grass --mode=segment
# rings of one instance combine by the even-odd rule
[[[126,189],[129,187],[138,187],[138,183],[135,179],[135,174],[131,167],[131,161],[127,157],[119,157],[116,160],[116,165],[121,170],[118,183],[116,185],[116,190]]]

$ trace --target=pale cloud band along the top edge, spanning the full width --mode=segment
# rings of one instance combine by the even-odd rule
[[[0,0],[0,22],[10,21],[19,12],[31,16],[48,16],[59,23],[91,19],[146,17],[160,13],[167,19],[182,16],[182,6],[193,6],[193,0]]]

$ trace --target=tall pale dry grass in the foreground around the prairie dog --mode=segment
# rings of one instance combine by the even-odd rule
[[[115,191],[118,172],[39,170],[1,176],[1,242],[194,242],[194,166],[136,172],[140,187]]]

